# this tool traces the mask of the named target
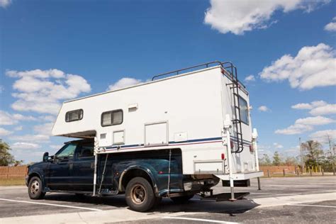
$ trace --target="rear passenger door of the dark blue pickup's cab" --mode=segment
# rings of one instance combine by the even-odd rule
[[[80,142],[74,155],[73,179],[77,191],[92,191],[94,187],[94,142]]]

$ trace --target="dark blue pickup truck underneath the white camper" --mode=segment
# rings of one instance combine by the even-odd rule
[[[182,174],[180,149],[146,150],[99,154],[94,188],[94,161],[92,139],[66,142],[52,156],[45,152],[43,162],[28,167],[26,186],[29,197],[41,199],[46,192],[78,196],[125,194],[131,209],[148,211],[162,197],[183,203],[194,194],[211,191],[219,181],[211,174]]]

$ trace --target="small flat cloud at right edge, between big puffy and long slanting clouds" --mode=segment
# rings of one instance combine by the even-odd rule
[[[336,113],[336,104],[328,104],[325,101],[313,101],[311,103],[298,103],[291,106],[293,109],[310,110],[313,116]]]

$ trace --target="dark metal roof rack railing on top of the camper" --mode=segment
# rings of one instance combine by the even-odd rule
[[[152,77],[152,81],[154,81],[157,77],[163,77],[163,76],[173,76],[173,75],[178,75],[181,74],[181,72],[186,72],[188,70],[191,71],[195,71],[196,69],[201,69],[201,68],[208,68],[208,67],[214,67],[214,66],[218,66],[220,65],[221,67],[223,67],[225,74],[231,79],[231,80],[237,80],[237,82],[239,82],[239,84],[241,86],[244,86],[244,84],[242,84],[238,79],[237,79],[237,68],[235,67],[235,65],[233,65],[232,62],[220,62],[220,61],[213,61],[213,62],[207,62],[201,65],[194,65],[191,67],[186,67],[183,69],[177,69],[171,72],[164,72],[162,74],[157,74],[154,77]],[[190,72],[191,72],[190,71]]]

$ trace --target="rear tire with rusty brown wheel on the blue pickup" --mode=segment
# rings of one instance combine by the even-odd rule
[[[135,177],[128,182],[125,197],[133,211],[148,211],[156,201],[152,186],[142,177]]]

